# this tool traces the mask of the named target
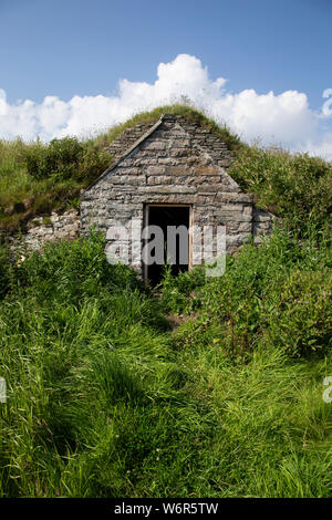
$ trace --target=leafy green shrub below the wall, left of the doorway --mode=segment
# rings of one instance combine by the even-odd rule
[[[122,264],[110,264],[104,249],[104,237],[94,232],[89,240],[49,242],[42,253],[33,251],[21,263],[17,287],[39,301],[71,304],[80,304],[83,297],[97,297],[103,290],[139,288],[134,271]]]

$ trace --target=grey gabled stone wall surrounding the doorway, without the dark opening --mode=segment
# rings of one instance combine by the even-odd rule
[[[132,150],[117,160],[81,198],[81,232],[91,226],[107,232],[132,219],[142,230],[147,204],[191,205],[194,225],[225,225],[227,251],[232,253],[255,232],[259,240],[269,231],[270,214],[253,208],[252,196],[243,194],[227,170],[232,154],[208,129],[180,116],[166,115],[156,125],[138,128],[136,146],[128,134]],[[121,137],[121,146],[126,137]],[[113,144],[113,149],[121,149]],[[125,246],[129,250],[128,239]],[[141,269],[139,253],[133,267]]]

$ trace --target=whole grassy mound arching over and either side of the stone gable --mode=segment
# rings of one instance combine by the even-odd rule
[[[170,105],[137,114],[87,141],[0,141],[0,233],[24,230],[29,220],[53,210],[79,207],[80,191],[112,163],[105,147],[125,129],[155,123],[164,113],[181,115],[218,135],[235,153],[231,176],[245,191],[256,195],[258,206],[292,220],[293,228],[313,220],[320,223],[331,214],[330,163],[305,154],[248,147],[201,112]]]

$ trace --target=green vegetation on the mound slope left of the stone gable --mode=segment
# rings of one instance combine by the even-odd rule
[[[76,205],[81,189],[108,164],[93,141],[0,141],[0,233],[24,230],[37,216]]]

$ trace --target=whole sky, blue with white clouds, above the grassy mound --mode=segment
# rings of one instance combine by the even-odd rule
[[[331,22],[332,0],[0,0],[0,137],[184,94],[247,141],[332,157]]]

